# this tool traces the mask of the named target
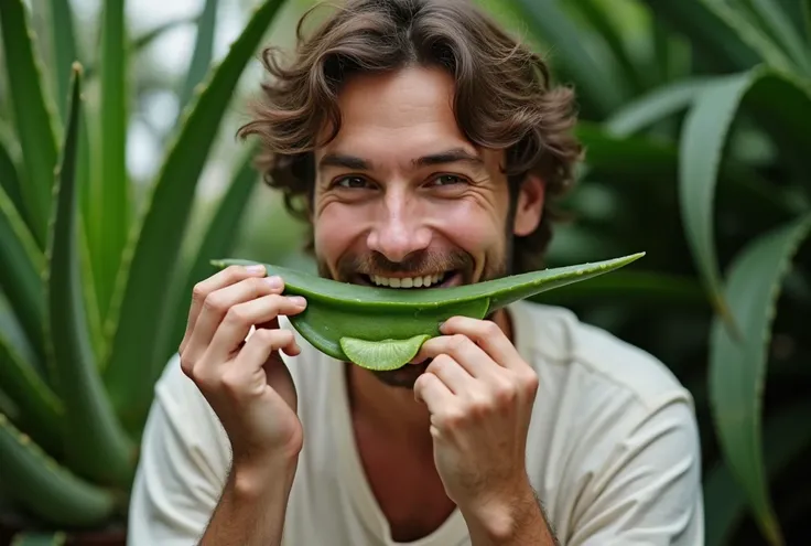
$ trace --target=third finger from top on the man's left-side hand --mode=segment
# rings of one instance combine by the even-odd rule
[[[239,347],[239,344],[245,340],[246,335],[248,335],[248,331],[252,325],[269,322],[280,314],[298,314],[302,312],[305,307],[306,301],[300,296],[289,297],[278,293],[270,293],[242,303],[237,303],[228,310],[225,318],[219,323],[219,328],[216,329],[216,332],[212,338],[207,355],[210,355],[215,362],[225,362],[228,360],[229,355]],[[264,331],[280,330],[257,329],[248,341]]]

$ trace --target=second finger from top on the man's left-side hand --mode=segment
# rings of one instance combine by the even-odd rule
[[[279,277],[249,277],[209,292],[186,345],[188,357],[196,358],[205,352],[219,323],[235,306],[283,290],[284,283]]]

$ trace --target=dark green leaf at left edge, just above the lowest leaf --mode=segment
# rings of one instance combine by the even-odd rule
[[[6,395],[22,410],[22,422],[34,440],[50,452],[60,453],[62,403],[33,366],[22,360],[2,332],[0,384]]]

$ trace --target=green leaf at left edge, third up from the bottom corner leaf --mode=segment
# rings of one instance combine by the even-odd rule
[[[44,341],[45,299],[41,275],[45,258],[11,200],[0,188],[0,287],[31,344]],[[42,357],[42,352],[37,353]]]

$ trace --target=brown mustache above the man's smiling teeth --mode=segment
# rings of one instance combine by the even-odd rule
[[[462,250],[443,253],[420,251],[410,254],[400,261],[391,261],[380,253],[344,256],[337,264],[339,279],[348,279],[355,274],[364,275],[428,275],[436,271],[461,270],[469,277],[473,274],[473,258]]]

